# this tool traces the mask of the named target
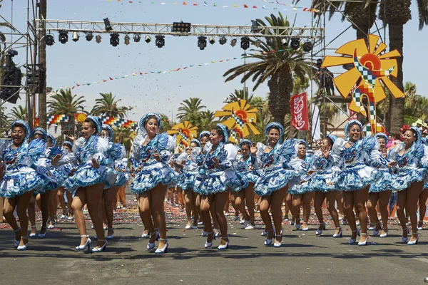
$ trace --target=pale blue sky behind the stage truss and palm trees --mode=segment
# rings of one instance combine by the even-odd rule
[[[189,6],[183,6],[183,1],[178,0],[150,0],[128,1],[116,0],[49,0],[48,19],[102,21],[108,17],[110,21],[159,23],[167,24],[174,21],[185,21],[192,24],[220,24],[220,25],[245,25],[250,26],[251,19],[264,18],[271,13],[281,11],[288,19],[294,19],[297,14],[296,26],[310,26],[311,14],[298,9],[294,11],[290,6],[270,4],[260,0],[218,0],[218,7],[213,7],[213,1],[207,1],[209,6],[203,6],[203,1],[197,1],[200,6],[192,6],[193,1],[187,1]],[[173,2],[178,5],[172,5]],[[138,3],[142,2],[142,3]],[[161,5],[165,2],[165,5]],[[291,0],[280,1],[290,4]],[[300,1],[299,6],[310,6],[310,0]],[[412,1],[416,2],[416,1]],[[233,6],[238,8],[223,9],[221,6]],[[241,6],[256,5],[258,9],[243,9]],[[2,2],[1,14],[8,20],[11,19],[11,0]],[[265,5],[266,9],[261,9]],[[277,8],[277,10],[274,10]],[[286,9],[286,11],[284,11]],[[417,93],[428,94],[428,81],[424,73],[427,63],[424,51],[428,46],[428,28],[418,31],[417,7],[412,5],[412,21],[404,26],[404,81],[412,81],[417,84]],[[26,28],[26,1],[14,1],[14,25],[21,30]],[[326,24],[326,42],[330,42],[338,33],[347,28],[349,24],[340,21],[340,15],[333,17]],[[382,26],[378,22],[378,26]],[[4,29],[2,30],[4,31]],[[382,37],[384,31],[381,31]],[[146,76],[131,76],[138,71],[166,71],[183,68],[185,66],[210,63],[210,61],[226,60],[228,58],[240,58],[243,50],[240,41],[235,47],[230,46],[230,39],[224,46],[217,42],[211,46],[208,43],[204,51],[197,46],[196,37],[165,37],[165,46],[157,48],[152,36],[151,43],[143,40],[126,46],[123,36],[118,47],[113,48],[109,43],[108,34],[102,34],[103,41],[91,42],[81,35],[76,43],[69,41],[66,44],[58,42],[58,34],[55,33],[54,46],[47,47],[48,86],[55,89],[61,86],[73,86],[75,83],[92,83],[111,77],[128,75],[130,77],[117,81],[96,84],[93,86],[81,86],[75,88],[73,93],[83,95],[86,99],[86,110],[91,110],[99,93],[112,92],[116,98],[121,99],[123,105],[131,105],[134,108],[128,115],[131,120],[138,120],[146,112],[165,113],[175,117],[180,103],[190,97],[198,97],[203,100],[203,105],[210,110],[220,110],[224,105],[224,98],[234,89],[242,88],[239,80],[225,83],[223,73],[229,68],[243,63],[242,60],[232,60],[223,63],[209,64],[208,66],[188,68],[173,73],[151,73]],[[132,36],[131,36],[132,38]],[[338,48],[347,41],[355,38],[355,30],[350,28],[344,35],[335,40],[330,48]],[[386,37],[387,38],[387,37]],[[218,38],[215,38],[216,41]],[[16,63],[24,63],[24,49],[19,48],[19,56]],[[329,52],[332,54],[332,51]],[[340,68],[341,69],[341,68]],[[335,71],[341,72],[340,69]],[[253,83],[248,83],[250,90]],[[255,95],[265,97],[268,91],[267,84],[255,90]],[[48,97],[49,99],[49,97]],[[24,101],[19,102],[24,105]],[[6,103],[7,108],[14,105]]]

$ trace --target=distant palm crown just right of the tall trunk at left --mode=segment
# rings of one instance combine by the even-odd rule
[[[88,113],[83,110],[83,103],[86,102],[83,96],[76,98],[71,94],[71,89],[59,90],[59,93],[51,95],[48,101],[49,115],[71,115],[76,113]]]

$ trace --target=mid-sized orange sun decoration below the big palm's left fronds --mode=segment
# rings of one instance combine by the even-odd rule
[[[260,132],[255,128],[257,123],[257,108],[251,108],[247,100],[240,99],[238,102],[228,103],[223,110],[215,111],[215,117],[225,117],[222,122],[230,130],[230,142],[238,143],[241,138],[253,134],[258,135]],[[250,130],[248,130],[250,129]]]

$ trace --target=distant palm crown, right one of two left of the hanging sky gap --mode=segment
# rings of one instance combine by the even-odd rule
[[[91,110],[91,114],[98,116],[106,116],[113,118],[125,118],[128,107],[118,107],[119,100],[115,100],[116,96],[111,93],[100,93],[101,98],[95,100],[95,105]]]

